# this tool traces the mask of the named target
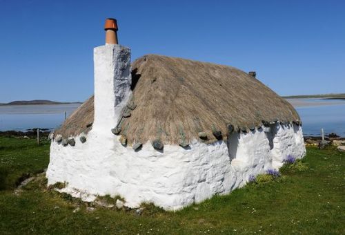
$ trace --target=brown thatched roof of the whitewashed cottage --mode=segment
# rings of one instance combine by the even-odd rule
[[[235,129],[261,126],[262,121],[292,122],[299,115],[286,100],[237,68],[188,59],[146,55],[132,64],[132,100],[122,118],[121,135],[128,142],[161,140],[177,144],[205,132],[226,136]],[[131,110],[135,108],[134,110]],[[93,121],[93,97],[55,133],[76,135]],[[111,129],[113,126],[109,126]]]

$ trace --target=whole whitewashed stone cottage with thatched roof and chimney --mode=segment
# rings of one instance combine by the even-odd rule
[[[299,115],[253,74],[161,55],[131,65],[113,22],[94,50],[95,96],[52,135],[49,185],[180,209],[304,156]]]

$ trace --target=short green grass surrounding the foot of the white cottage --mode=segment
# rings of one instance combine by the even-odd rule
[[[0,234],[345,234],[344,153],[308,148],[304,171],[250,184],[179,212],[146,205],[141,216],[97,207],[47,190],[41,177],[16,196],[16,178],[48,165],[49,145],[0,138]],[[2,178],[3,176],[1,176]],[[73,213],[76,207],[78,212]]]

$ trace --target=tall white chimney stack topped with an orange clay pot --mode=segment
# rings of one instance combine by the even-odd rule
[[[95,120],[92,129],[117,125],[130,97],[130,48],[117,44],[117,21],[106,19],[106,45],[94,48]]]

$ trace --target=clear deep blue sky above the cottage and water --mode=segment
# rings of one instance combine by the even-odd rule
[[[0,102],[86,100],[107,17],[132,60],[155,53],[253,70],[279,95],[345,93],[344,10],[340,0],[0,0]]]

